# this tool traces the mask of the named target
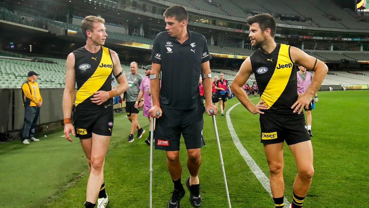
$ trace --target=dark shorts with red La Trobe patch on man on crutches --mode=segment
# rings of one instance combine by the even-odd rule
[[[155,125],[155,149],[178,151],[181,134],[187,150],[205,145],[203,105],[189,110],[162,108],[162,111]]]

